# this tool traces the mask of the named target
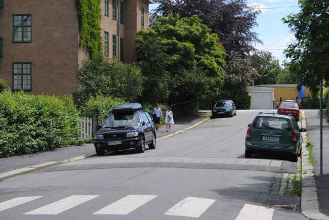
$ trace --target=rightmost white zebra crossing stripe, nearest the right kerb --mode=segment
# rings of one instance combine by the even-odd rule
[[[271,220],[273,212],[273,208],[244,204],[235,220]]]

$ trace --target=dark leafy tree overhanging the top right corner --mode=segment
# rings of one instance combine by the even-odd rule
[[[329,1],[300,0],[300,13],[282,18],[295,32],[296,41],[285,50],[291,71],[311,89],[329,82]]]

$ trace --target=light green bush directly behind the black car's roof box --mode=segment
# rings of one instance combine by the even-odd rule
[[[112,108],[124,103],[124,99],[104,97],[99,93],[96,97],[91,97],[86,105],[81,108],[81,115],[83,117],[91,117],[95,115],[97,117],[97,123],[103,124]]]

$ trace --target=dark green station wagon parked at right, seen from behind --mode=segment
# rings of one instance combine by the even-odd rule
[[[280,152],[290,154],[297,162],[302,151],[303,138],[293,116],[280,114],[258,114],[251,124],[245,137],[245,158],[251,158],[253,153]]]

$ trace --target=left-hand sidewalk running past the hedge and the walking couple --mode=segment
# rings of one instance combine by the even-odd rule
[[[171,132],[179,131],[187,128],[210,114],[210,111],[199,111],[191,115],[175,120]],[[157,139],[167,136],[166,125],[159,128],[157,132]],[[19,174],[20,172],[50,166],[58,162],[65,162],[69,160],[84,159],[87,156],[94,155],[95,148],[93,144],[86,144],[85,146],[69,146],[66,148],[56,148],[52,151],[39,152],[35,154],[14,156],[8,158],[0,158],[0,179],[6,176]],[[2,175],[4,174],[4,175]]]

